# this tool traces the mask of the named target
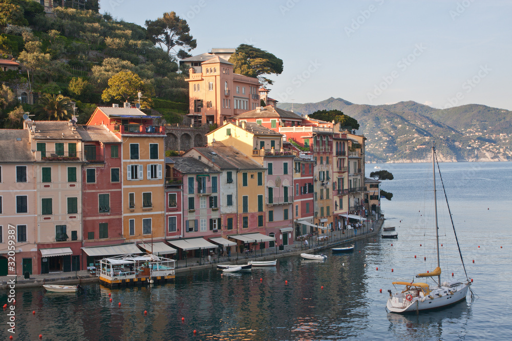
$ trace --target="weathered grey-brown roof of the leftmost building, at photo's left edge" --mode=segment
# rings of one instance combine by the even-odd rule
[[[0,129],[0,162],[33,161],[27,129]]]

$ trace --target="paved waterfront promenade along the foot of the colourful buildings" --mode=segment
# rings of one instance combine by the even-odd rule
[[[308,239],[308,246],[304,242],[296,241],[293,245],[285,246],[285,249],[279,250],[276,248],[266,249],[265,252],[254,251],[251,255],[243,253],[231,253],[231,257],[221,257],[218,255],[203,258],[188,258],[176,261],[176,276],[179,274],[191,272],[194,270],[207,269],[216,267],[217,264],[246,264],[248,261],[268,261],[277,258],[298,256],[301,253],[315,253],[328,249],[336,245],[343,245],[354,242],[356,240],[365,239],[369,237],[379,237],[379,232],[384,222],[384,218],[372,222],[365,222],[364,226],[356,230],[345,231],[332,231],[326,233],[324,236],[328,238],[318,238],[317,236],[310,236]],[[0,289],[6,289],[7,281],[12,280],[12,277],[0,277]],[[99,282],[99,277],[91,275],[88,270],[80,270],[75,272],[52,272],[43,275],[31,275],[30,279],[24,279],[23,276],[18,276],[16,279],[17,288],[30,288],[39,287],[44,284],[87,284]]]

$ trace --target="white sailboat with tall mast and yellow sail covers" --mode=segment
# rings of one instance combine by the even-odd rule
[[[428,310],[434,308],[442,308],[462,300],[465,300],[467,290],[470,288],[471,281],[467,277],[466,268],[464,266],[464,260],[462,258],[462,253],[460,251],[459,241],[457,239],[457,234],[455,232],[455,225],[452,226],[455,234],[455,240],[457,241],[457,247],[459,249],[460,260],[462,263],[462,268],[464,269],[464,274],[466,275],[465,281],[451,281],[451,282],[442,282],[441,283],[441,267],[439,260],[439,232],[438,232],[438,224],[437,224],[437,198],[436,198],[436,150],[435,147],[432,146],[432,168],[434,175],[434,229],[436,232],[436,244],[437,244],[437,267],[433,271],[427,271],[422,274],[416,275],[416,278],[431,278],[434,280],[434,277],[437,277],[437,281],[434,280],[435,284],[431,287],[427,283],[423,282],[415,282],[415,281],[397,281],[393,282],[393,286],[403,285],[401,290],[398,290],[396,293],[392,293],[391,290],[389,292],[389,299],[386,304],[386,308],[395,313],[407,313],[407,312],[419,312],[420,310]],[[438,165],[439,169],[439,165]],[[439,177],[442,183],[441,172],[439,170]],[[446,196],[446,192],[445,192]],[[446,199],[446,204],[448,208],[448,212],[450,217],[452,213],[450,211],[450,205],[448,204],[448,200]],[[383,237],[383,236],[382,236]]]

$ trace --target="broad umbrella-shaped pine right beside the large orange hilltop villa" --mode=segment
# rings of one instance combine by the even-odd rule
[[[240,44],[237,51],[229,58],[229,62],[234,64],[233,72],[247,77],[256,77],[263,85],[273,84],[271,79],[263,75],[281,75],[283,72],[282,59],[247,44]]]

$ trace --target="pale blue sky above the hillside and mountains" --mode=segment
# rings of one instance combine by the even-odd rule
[[[175,11],[200,54],[253,44],[283,59],[270,96],[512,110],[512,1],[100,0],[141,26]]]

